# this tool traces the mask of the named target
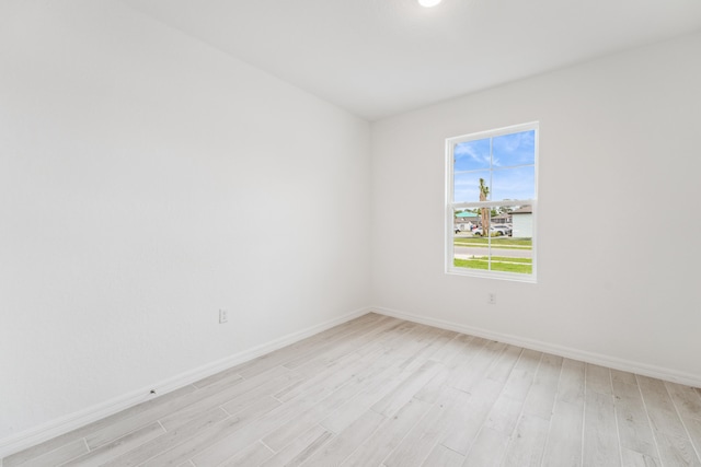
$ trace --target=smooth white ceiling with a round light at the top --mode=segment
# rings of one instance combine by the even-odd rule
[[[122,1],[369,120],[701,30],[701,0]]]

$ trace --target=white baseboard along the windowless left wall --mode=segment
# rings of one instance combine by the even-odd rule
[[[137,404],[143,402],[145,400],[148,400],[152,397],[157,397],[149,396],[151,389],[154,389],[158,396],[168,394],[172,390],[195,383],[202,378],[211,376],[216,373],[248,362],[249,360],[253,360],[274,350],[281,349],[283,347],[289,346],[299,340],[306,339],[310,336],[322,332],[326,329],[330,329],[334,326],[341,325],[370,312],[371,310],[369,307],[356,310],[341,317],[327,320],[315,326],[311,326],[307,329],[302,329],[287,336],[283,336],[279,339],[275,339],[262,346],[243,350],[225,359],[208,363],[197,369],[189,370],[185,373],[157,383],[156,385],[151,385],[149,387],[138,389],[119,397],[115,397],[105,402],[85,408],[78,412],[56,420],[51,420],[42,425],[2,439],[0,440],[0,466],[2,466],[2,459],[11,454],[19,453],[20,451],[26,450],[53,437],[60,436],[61,434],[68,433],[89,423],[117,413],[129,407],[134,407]]]

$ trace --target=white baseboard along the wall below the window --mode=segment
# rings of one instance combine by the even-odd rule
[[[660,366],[648,365],[646,363],[633,362],[619,359],[616,357],[604,355],[600,353],[578,350],[571,347],[559,346],[554,343],[543,342],[540,340],[528,339],[519,336],[513,336],[502,332],[493,332],[486,329],[480,329],[471,326],[464,326],[456,323],[435,319],[425,316],[416,316],[410,313],[399,312],[397,310],[383,308],[381,306],[370,306],[370,311],[381,315],[393,316],[407,322],[424,324],[440,329],[455,330],[457,332],[478,336],[490,340],[496,340],[504,343],[510,343],[526,349],[537,350],[539,352],[552,353],[554,355],[564,357],[572,360],[578,360],[586,363],[593,363],[607,366],[614,370],[635,373],[643,376],[655,377],[658,380],[679,383],[687,386],[701,387],[701,375],[694,375]]]

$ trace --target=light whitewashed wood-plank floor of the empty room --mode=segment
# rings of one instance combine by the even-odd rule
[[[368,314],[10,466],[701,466],[701,392]]]

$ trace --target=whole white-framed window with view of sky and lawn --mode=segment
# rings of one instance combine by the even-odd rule
[[[446,140],[446,272],[536,281],[538,124]]]

